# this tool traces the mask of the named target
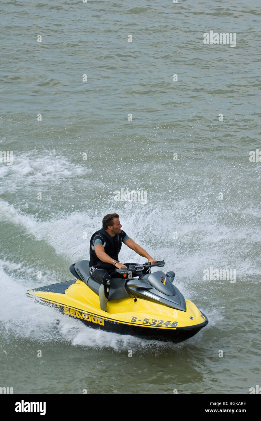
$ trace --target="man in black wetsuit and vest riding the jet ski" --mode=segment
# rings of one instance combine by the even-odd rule
[[[115,267],[118,269],[127,267],[118,260],[122,242],[136,251],[140,256],[146,257],[151,264],[157,263],[157,260],[149,256],[146,250],[128,237],[128,235],[121,230],[121,227],[119,215],[117,213],[109,213],[102,219],[102,229],[94,232],[91,236],[90,274],[101,284],[99,287],[99,300],[100,307],[104,312],[107,311],[111,278],[122,277],[115,272]],[[144,273],[150,272],[150,268],[145,269],[144,271]]]

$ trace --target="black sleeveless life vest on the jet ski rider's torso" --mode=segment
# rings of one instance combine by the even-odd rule
[[[92,249],[91,243],[96,234],[102,234],[102,237],[105,238],[105,244],[104,244],[104,251],[105,253],[110,256],[113,260],[118,260],[118,254],[120,253],[121,249],[121,243],[122,243],[122,231],[120,234],[116,234],[114,237],[111,237],[110,234],[105,231],[104,228],[99,229],[98,231],[94,232],[91,236],[90,241],[90,266],[97,266],[101,267],[102,269],[108,269],[108,270],[114,270],[115,267],[113,264],[105,263],[101,261],[95,253],[95,250]]]

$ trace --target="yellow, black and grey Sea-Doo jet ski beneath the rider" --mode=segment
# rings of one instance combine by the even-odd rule
[[[91,328],[179,343],[196,335],[208,324],[208,319],[173,285],[175,272],[142,272],[144,268],[164,264],[147,262],[115,269],[125,278],[112,277],[107,312],[100,309],[101,284],[90,276],[89,260],[70,265],[76,280],[34,288],[27,295]],[[138,276],[132,277],[134,272]]]

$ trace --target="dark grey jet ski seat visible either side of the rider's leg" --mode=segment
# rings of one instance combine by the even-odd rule
[[[77,279],[85,282],[86,285],[88,285],[88,287],[91,288],[92,291],[99,295],[99,287],[101,284],[91,277],[89,260],[80,260],[77,263],[71,264],[70,272]],[[125,290],[125,283],[127,282],[127,280],[122,278],[111,279],[110,293],[108,298],[109,301],[120,300],[122,298],[129,297],[129,294]]]

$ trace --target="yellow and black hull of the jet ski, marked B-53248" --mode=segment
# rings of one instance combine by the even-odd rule
[[[128,297],[108,301],[104,312],[99,296],[78,279],[32,289],[27,295],[91,328],[146,339],[179,343],[208,324],[206,316],[189,300],[185,300],[186,311],[181,311],[144,298]]]

